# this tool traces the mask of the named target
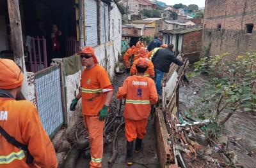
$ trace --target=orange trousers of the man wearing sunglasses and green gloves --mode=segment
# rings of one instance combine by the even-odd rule
[[[103,155],[104,122],[99,121],[99,116],[84,115],[84,126],[90,136],[90,146],[91,146],[90,168],[101,167],[102,155]]]

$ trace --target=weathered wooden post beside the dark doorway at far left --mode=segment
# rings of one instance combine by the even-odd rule
[[[10,27],[11,27],[13,58],[15,63],[21,67],[21,71],[24,74],[24,80],[22,83],[21,92],[24,98],[28,99],[29,98],[28,80],[27,80],[26,65],[25,65],[25,59],[24,59],[19,0],[8,0],[7,2],[8,2]]]

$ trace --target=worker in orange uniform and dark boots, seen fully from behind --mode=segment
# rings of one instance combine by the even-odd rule
[[[150,115],[150,104],[156,104],[158,99],[154,81],[144,76],[148,69],[147,59],[138,59],[136,69],[137,74],[126,78],[116,95],[118,99],[126,99],[124,118],[127,165],[132,165],[134,139],[136,139],[135,152],[138,153],[141,150],[142,139],[146,134],[148,116]]]

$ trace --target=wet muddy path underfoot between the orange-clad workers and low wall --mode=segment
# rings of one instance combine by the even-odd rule
[[[113,79],[113,87],[115,88],[115,94],[113,95],[113,99],[115,99],[116,92],[118,87],[120,87],[127,77],[127,74],[121,74],[115,76]],[[118,102],[118,101],[116,101]],[[150,118],[148,119],[147,125],[147,134],[143,139],[143,150],[140,153],[134,153],[134,164],[130,167],[134,168],[157,168],[159,167],[159,162],[157,159],[157,148],[156,148],[156,136],[154,132],[154,121]],[[135,142],[134,142],[135,145]],[[112,143],[104,145],[104,155],[102,161],[102,168],[109,167],[108,160],[111,158],[112,151],[111,151]],[[114,164],[112,165],[113,168],[125,168],[128,167],[125,164],[125,154],[126,154],[126,141],[125,141],[125,131],[122,129],[122,132],[118,134],[118,155]],[[90,160],[85,159],[82,155],[79,156],[77,160],[76,167],[89,167]]]

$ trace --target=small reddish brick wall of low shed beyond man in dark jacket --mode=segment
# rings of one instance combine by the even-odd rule
[[[190,63],[199,60],[202,48],[202,30],[184,34],[183,52]]]

